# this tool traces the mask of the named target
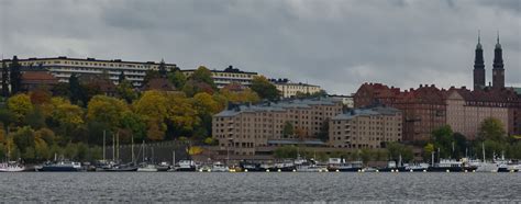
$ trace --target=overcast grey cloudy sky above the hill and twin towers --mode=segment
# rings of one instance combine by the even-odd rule
[[[364,82],[487,83],[499,31],[506,84],[521,87],[521,0],[0,0],[4,58],[68,56],[233,65],[351,94]]]

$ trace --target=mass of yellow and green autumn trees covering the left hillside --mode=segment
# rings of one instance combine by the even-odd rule
[[[5,84],[19,80],[3,77],[13,70],[20,70],[16,60],[2,70],[0,158],[9,152],[11,159],[27,161],[46,160],[54,155],[78,160],[99,159],[103,135],[108,145],[113,136],[120,144],[132,139],[135,143],[189,139],[192,144],[214,144],[212,115],[225,109],[229,102],[255,103],[280,97],[264,77],[256,77],[251,89],[219,90],[209,69],[199,67],[190,77],[185,77],[179,69],[166,70],[164,63],[159,70],[146,73],[144,83],[164,78],[176,91],[141,91],[122,73],[113,97],[75,75],[69,83],[52,89],[41,87],[21,92],[18,83],[18,89],[7,90]]]

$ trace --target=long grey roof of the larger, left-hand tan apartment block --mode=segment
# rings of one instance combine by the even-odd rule
[[[282,112],[286,109],[310,109],[312,105],[334,105],[341,102],[332,98],[315,98],[315,99],[292,99],[280,102],[267,102],[256,105],[239,105],[232,109],[224,110],[215,116],[234,116],[240,113],[252,112]]]

